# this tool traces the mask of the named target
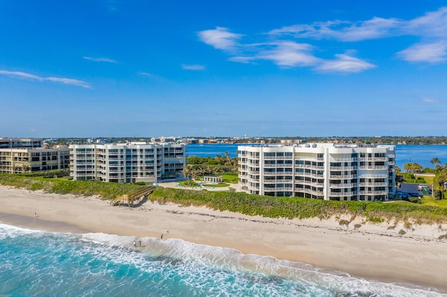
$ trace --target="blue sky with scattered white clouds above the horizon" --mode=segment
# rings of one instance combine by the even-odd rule
[[[447,135],[446,119],[445,1],[0,1],[0,137]]]

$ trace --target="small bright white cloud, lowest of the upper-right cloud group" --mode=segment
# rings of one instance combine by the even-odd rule
[[[337,60],[324,60],[320,66],[316,67],[316,70],[338,73],[359,73],[360,71],[376,67],[374,64],[346,54],[336,54],[335,56],[337,56]]]

